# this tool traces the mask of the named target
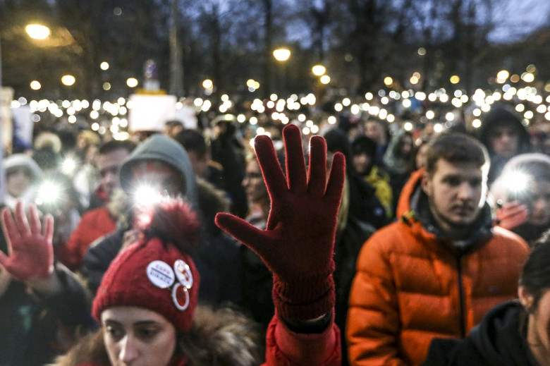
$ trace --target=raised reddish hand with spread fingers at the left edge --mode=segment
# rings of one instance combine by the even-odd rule
[[[30,224],[29,224],[30,222]],[[2,228],[8,243],[8,256],[0,252],[0,265],[19,281],[39,279],[54,272],[54,218],[44,218],[44,232],[35,205],[29,207],[29,219],[23,204],[16,205],[15,221],[9,209],[2,211]]]

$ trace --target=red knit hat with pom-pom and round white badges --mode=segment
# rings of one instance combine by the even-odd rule
[[[148,229],[153,236],[129,245],[111,262],[94,298],[92,315],[100,321],[109,307],[143,307],[185,333],[193,323],[200,278],[183,250],[196,245],[200,221],[183,201],[173,200],[157,207]]]

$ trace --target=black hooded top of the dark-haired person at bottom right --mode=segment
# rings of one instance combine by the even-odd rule
[[[525,310],[509,301],[491,309],[467,338],[434,339],[422,366],[539,366],[526,334]]]

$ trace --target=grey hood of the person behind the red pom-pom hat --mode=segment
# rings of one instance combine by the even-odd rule
[[[182,195],[192,207],[197,207],[197,186],[193,166],[185,149],[165,135],[157,133],[142,142],[123,162],[120,170],[121,187],[129,192],[132,180],[132,166],[138,161],[162,161],[169,164],[183,177]]]

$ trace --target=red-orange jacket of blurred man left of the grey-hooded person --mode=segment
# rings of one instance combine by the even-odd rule
[[[78,271],[90,244],[115,229],[116,222],[111,218],[107,207],[92,209],[82,215],[65,248],[56,252],[56,255],[71,271]]]

